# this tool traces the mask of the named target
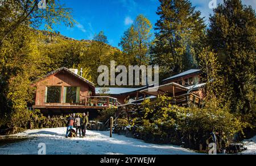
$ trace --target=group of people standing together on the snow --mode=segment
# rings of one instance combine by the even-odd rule
[[[79,115],[76,116],[76,114],[72,114],[68,118],[68,127],[66,132],[66,138],[68,138],[69,133],[76,128],[76,137],[77,137],[77,131],[79,131],[79,137],[83,138],[86,134],[86,129],[88,125],[88,116],[83,113],[82,118],[79,117]]]

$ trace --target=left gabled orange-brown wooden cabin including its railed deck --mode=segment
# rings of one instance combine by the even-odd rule
[[[117,99],[96,96],[95,86],[82,77],[77,69],[60,68],[34,82],[36,87],[34,109],[43,114],[69,114],[89,111],[96,115],[97,110],[117,106]]]

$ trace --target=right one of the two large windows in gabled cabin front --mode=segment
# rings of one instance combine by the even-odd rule
[[[63,102],[64,103],[79,103],[80,101],[80,87],[65,86]]]

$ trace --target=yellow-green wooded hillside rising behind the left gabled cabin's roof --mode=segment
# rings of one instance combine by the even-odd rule
[[[83,68],[84,77],[97,81],[97,68],[115,60],[123,64],[122,52],[111,45],[96,40],[76,40],[59,33],[35,31],[39,53],[46,60],[44,67],[48,73],[61,67]],[[96,35],[97,37],[97,35]]]

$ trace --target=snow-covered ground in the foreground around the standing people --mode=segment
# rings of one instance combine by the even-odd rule
[[[29,136],[28,140],[0,147],[0,154],[38,154],[38,144],[46,144],[47,155],[93,154],[93,155],[189,155],[191,150],[170,145],[144,143],[142,140],[113,134],[108,131],[87,131],[86,138],[64,138],[66,128],[27,130],[13,136]]]

